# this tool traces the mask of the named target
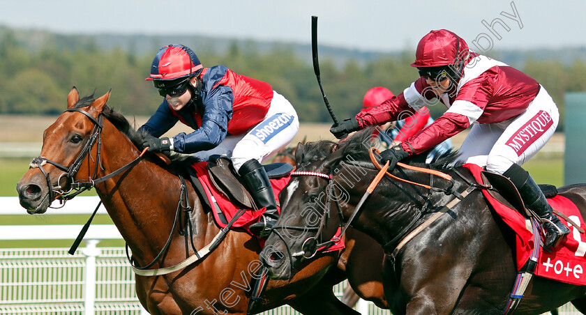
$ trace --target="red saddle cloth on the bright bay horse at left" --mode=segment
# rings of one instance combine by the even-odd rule
[[[211,180],[209,178],[209,174],[207,171],[207,162],[197,162],[195,164],[192,164],[191,167],[193,167],[193,169],[195,169],[195,172],[197,173],[197,179],[200,180],[200,183],[202,183],[202,185],[204,186],[204,190],[206,192],[206,197],[209,200],[209,203],[211,205],[213,205],[213,203],[217,203],[218,206],[220,207],[220,210],[222,210],[223,215],[226,217],[227,222],[230,222],[230,220],[232,220],[232,218],[234,218],[234,215],[236,215],[236,213],[238,213],[238,210],[240,210],[241,208],[239,208],[239,206],[234,205],[234,203],[232,203],[232,201],[230,201],[230,199],[228,199],[222,192],[220,192],[215,185],[213,185],[213,183],[211,183]],[[283,188],[287,185],[287,183],[289,183],[289,180],[291,180],[291,176],[285,176],[282,178],[271,178],[271,185],[273,186],[273,192],[275,193],[275,198],[277,199],[277,204],[278,204],[278,196],[279,196],[279,192],[281,190],[283,190]],[[247,231],[248,233],[250,233],[250,230],[248,230],[248,226],[250,226],[250,224],[253,224],[255,222],[259,222],[260,220],[260,216],[264,213],[264,210],[266,210],[265,208],[261,208],[259,210],[253,210],[253,209],[248,209],[246,210],[243,215],[241,215],[238,219],[236,219],[236,222],[234,222],[234,224],[232,225],[232,228],[242,228],[245,231]],[[280,207],[277,206],[277,211],[278,213],[280,213]],[[220,220],[220,217],[218,215],[218,213],[216,213],[216,211],[212,211],[213,213],[213,217],[216,220],[216,224],[218,224],[218,226],[220,226],[221,228],[224,228],[227,226],[227,224],[225,222],[223,222],[223,220]],[[340,233],[340,229],[338,229],[338,233]],[[336,236],[338,235],[338,233],[336,233]],[[250,233],[252,235],[252,233]],[[264,240],[266,239],[260,239],[261,241],[261,245],[264,245]],[[336,245],[331,246],[329,249],[327,249],[324,252],[333,252],[335,250],[338,249],[343,249],[345,248],[345,243],[344,240],[340,240],[340,242],[336,243]]]

